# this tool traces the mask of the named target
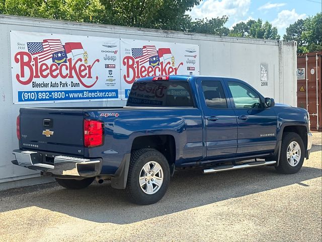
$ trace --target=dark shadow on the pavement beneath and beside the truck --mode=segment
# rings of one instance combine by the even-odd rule
[[[268,191],[320,177],[321,169],[303,166],[293,175],[274,167],[202,174],[199,170],[176,172],[166,196],[156,204],[138,206],[128,202],[123,190],[108,183],[93,183],[84,190],[67,190],[56,183],[0,193],[0,212],[37,206],[100,223],[128,224],[230,198]],[[307,185],[305,185],[307,186]]]

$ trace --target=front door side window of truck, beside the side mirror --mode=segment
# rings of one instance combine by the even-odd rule
[[[236,108],[260,108],[259,95],[248,86],[238,82],[228,82],[233,102]]]

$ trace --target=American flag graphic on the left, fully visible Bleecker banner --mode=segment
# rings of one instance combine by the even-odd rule
[[[27,42],[29,53],[37,56],[39,63],[52,57],[58,51],[65,51],[60,39],[44,39],[42,42]]]

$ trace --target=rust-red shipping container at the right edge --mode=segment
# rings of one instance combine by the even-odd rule
[[[321,56],[322,51],[297,55],[297,106],[309,112],[311,130],[317,131],[322,131]]]

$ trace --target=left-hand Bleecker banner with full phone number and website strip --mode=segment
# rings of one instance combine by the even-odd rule
[[[120,40],[10,31],[13,102],[120,99]]]

